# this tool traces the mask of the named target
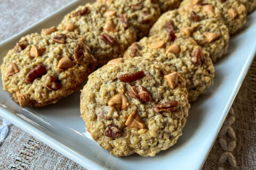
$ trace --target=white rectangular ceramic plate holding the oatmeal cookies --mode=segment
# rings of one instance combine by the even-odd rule
[[[1,43],[0,64],[22,36],[58,25],[63,15],[86,2],[75,1]],[[215,63],[214,84],[191,104],[178,143],[155,157],[117,158],[102,149],[86,132],[80,118],[79,91],[56,104],[21,108],[2,90],[0,80],[0,116],[87,169],[200,169],[252,63],[256,52],[255,35],[256,12],[249,15],[241,33],[230,39],[228,54]]]

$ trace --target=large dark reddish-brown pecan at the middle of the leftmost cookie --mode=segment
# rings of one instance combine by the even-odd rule
[[[44,65],[38,64],[26,74],[25,81],[31,83],[35,79],[42,77],[46,72]]]

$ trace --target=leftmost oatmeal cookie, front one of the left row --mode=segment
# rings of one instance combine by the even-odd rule
[[[44,29],[22,37],[4,57],[3,89],[21,107],[56,103],[79,89],[95,62],[75,33]]]

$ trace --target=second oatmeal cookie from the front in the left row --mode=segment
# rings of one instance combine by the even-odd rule
[[[137,39],[135,30],[121,21],[121,14],[101,3],[79,6],[65,16],[58,29],[84,37],[98,67],[121,57]]]

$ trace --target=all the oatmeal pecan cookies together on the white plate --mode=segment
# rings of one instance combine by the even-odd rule
[[[81,94],[87,131],[117,157],[155,156],[177,142],[189,102],[213,84],[213,62],[227,53],[229,35],[242,29],[256,1],[184,0],[175,10],[179,5],[79,6],[58,27],[22,37],[8,52],[4,90],[21,107],[45,106],[78,90],[102,66]]]

